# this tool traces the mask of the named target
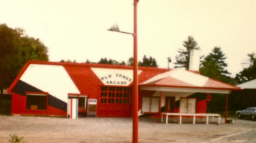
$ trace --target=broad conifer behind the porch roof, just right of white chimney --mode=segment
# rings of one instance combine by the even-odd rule
[[[200,74],[218,79],[222,82],[230,82],[229,71],[227,71],[227,63],[225,63],[225,54],[222,53],[220,47],[215,47],[212,52],[204,58],[200,68]]]

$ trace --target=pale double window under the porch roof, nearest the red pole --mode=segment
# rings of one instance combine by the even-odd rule
[[[142,97],[142,112],[159,112],[159,97]]]

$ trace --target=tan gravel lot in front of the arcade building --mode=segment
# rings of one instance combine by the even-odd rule
[[[0,123],[1,143],[9,142],[9,134],[24,137],[28,143],[132,142],[132,118],[0,116]],[[184,123],[170,119],[165,124],[158,123],[158,119],[140,118],[139,142],[208,142],[256,128],[256,122],[238,119],[234,119],[234,124],[205,124],[204,119],[197,119],[197,124],[184,119]]]

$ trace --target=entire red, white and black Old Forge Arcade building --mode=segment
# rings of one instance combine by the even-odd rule
[[[239,90],[198,71],[139,67],[139,114],[205,113],[211,93]],[[12,114],[132,117],[132,66],[28,61],[9,87]]]

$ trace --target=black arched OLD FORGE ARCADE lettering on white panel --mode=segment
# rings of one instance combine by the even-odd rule
[[[101,77],[101,81],[106,81],[105,84],[127,85],[132,82],[132,78],[124,74],[109,74]]]

